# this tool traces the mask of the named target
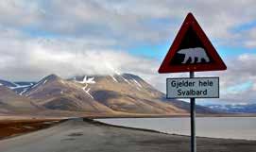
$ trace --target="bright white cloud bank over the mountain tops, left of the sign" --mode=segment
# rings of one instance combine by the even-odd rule
[[[0,30],[1,78],[39,80],[45,75],[112,75],[115,72],[152,74],[153,59],[131,56],[122,50],[98,47],[98,42],[77,39],[31,39]],[[105,42],[108,43],[108,42]]]

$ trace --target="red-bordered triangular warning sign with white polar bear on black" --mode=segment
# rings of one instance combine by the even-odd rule
[[[212,42],[189,13],[162,61],[159,73],[226,70]]]

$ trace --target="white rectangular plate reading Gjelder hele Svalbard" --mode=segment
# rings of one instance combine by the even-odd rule
[[[219,77],[167,78],[167,98],[219,98]]]

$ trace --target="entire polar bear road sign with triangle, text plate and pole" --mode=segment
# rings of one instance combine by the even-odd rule
[[[195,77],[195,72],[227,70],[212,42],[188,13],[162,61],[159,73],[189,72],[190,77],[167,78],[166,98],[190,98],[191,152],[196,152],[196,98],[218,98],[218,77]]]

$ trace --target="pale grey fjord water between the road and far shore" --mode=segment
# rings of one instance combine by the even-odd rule
[[[114,118],[97,120],[123,127],[146,128],[170,134],[190,135],[190,118]],[[256,118],[196,118],[196,136],[256,140]]]

